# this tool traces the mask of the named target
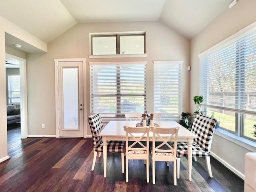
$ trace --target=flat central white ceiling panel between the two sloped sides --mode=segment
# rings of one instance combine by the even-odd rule
[[[60,0],[77,22],[156,21],[165,0]]]

